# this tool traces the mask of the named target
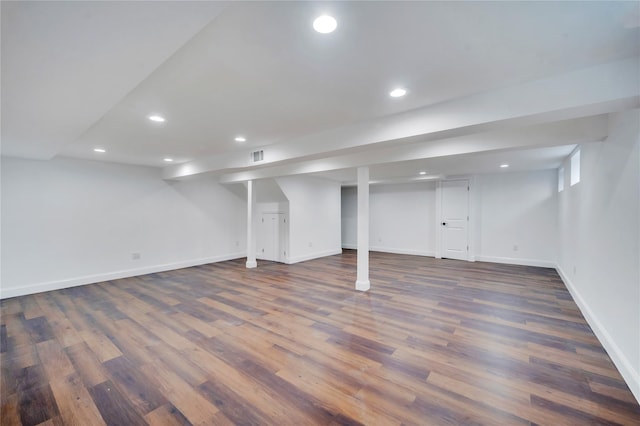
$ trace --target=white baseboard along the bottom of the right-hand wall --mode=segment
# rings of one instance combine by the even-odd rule
[[[573,285],[569,276],[564,273],[560,265],[556,265],[556,271],[558,271],[558,275],[564,282],[564,285],[571,293],[573,300],[580,308],[580,312],[584,315],[584,318],[587,320],[587,323],[595,333],[598,340],[607,351],[611,360],[620,371],[622,378],[631,389],[633,396],[636,397],[638,403],[640,403],[640,371],[637,371],[633,368],[633,363],[627,358],[624,353],[620,350],[620,347],[613,340],[607,329],[602,325],[598,317],[595,315],[593,310],[589,307],[587,302],[582,298],[580,292]]]

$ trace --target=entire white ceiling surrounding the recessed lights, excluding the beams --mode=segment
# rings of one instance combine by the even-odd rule
[[[214,173],[238,170],[225,165],[233,153],[248,157],[256,147],[293,153],[298,147],[290,155],[295,160],[305,156],[297,141],[309,135],[362,123],[384,126],[421,108],[640,55],[638,2],[1,7],[3,155],[156,167],[172,157],[186,165],[206,160],[216,164],[207,169]],[[338,20],[334,33],[313,31],[321,13]],[[397,85],[408,95],[390,98]],[[547,109],[554,111],[551,104]],[[151,113],[164,115],[166,123],[148,121]],[[546,120],[566,118],[576,116]],[[233,141],[240,134],[246,143]],[[375,166],[372,176],[395,178],[395,170],[422,168],[420,161],[447,174],[490,171],[490,164],[503,161],[523,169],[556,167],[573,143],[556,141],[566,147],[547,151],[531,146],[529,154],[520,146],[513,160],[509,150],[495,158],[467,154],[459,162],[446,155],[415,158]],[[331,146],[322,155],[337,155],[341,140]],[[94,147],[107,152],[96,154]],[[350,153],[368,148],[363,143]],[[350,180],[348,173],[326,173]]]

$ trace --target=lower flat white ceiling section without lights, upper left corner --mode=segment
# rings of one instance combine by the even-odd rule
[[[38,159],[81,138],[223,9],[135,1],[0,7],[2,153]]]

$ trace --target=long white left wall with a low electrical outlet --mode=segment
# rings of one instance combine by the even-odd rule
[[[2,297],[243,257],[245,250],[241,185],[166,182],[148,167],[2,158]]]

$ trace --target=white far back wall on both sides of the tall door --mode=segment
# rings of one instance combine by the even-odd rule
[[[474,178],[470,235],[475,260],[555,266],[556,172],[496,173]],[[342,189],[342,246],[356,248],[357,189]],[[371,250],[434,256],[436,184],[370,187]],[[518,246],[514,250],[514,245]]]

